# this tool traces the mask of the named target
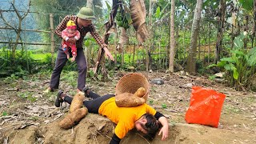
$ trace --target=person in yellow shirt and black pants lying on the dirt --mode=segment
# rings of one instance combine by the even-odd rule
[[[138,131],[142,131],[142,133],[146,134],[146,138],[152,140],[162,125],[159,135],[162,134],[162,140],[168,137],[169,128],[166,117],[146,103],[134,107],[118,107],[115,103],[114,94],[106,94],[101,97],[89,89],[85,88],[83,91],[86,97],[92,98],[90,101],[83,102],[88,112],[106,116],[117,124],[110,144],[119,143],[121,139],[126,136],[128,131],[134,128]],[[59,107],[62,102],[71,104],[72,100],[73,98],[60,90],[55,106]]]

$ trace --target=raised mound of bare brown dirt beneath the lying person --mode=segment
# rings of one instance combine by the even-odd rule
[[[24,130],[18,130],[12,134],[10,143],[69,143],[69,144],[108,144],[114,134],[114,123],[98,114],[88,114],[77,126],[70,130],[64,130],[58,121],[43,126],[30,126]],[[243,137],[239,137],[240,135]],[[222,130],[186,123],[170,124],[169,138],[161,140],[161,135],[156,135],[153,141],[149,141],[136,130],[131,130],[122,144],[172,144],[172,143],[254,143],[254,136],[249,132],[240,131],[239,134],[233,130]],[[42,140],[43,139],[43,140]],[[41,143],[40,142],[40,143]]]

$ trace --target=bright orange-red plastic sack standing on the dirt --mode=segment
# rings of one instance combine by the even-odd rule
[[[215,90],[193,86],[186,122],[218,127],[225,97],[225,94]]]

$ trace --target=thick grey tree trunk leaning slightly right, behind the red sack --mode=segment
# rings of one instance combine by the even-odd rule
[[[190,74],[196,74],[196,52],[198,42],[198,30],[199,22],[201,19],[202,12],[202,0],[197,0],[197,5],[194,10],[194,19],[192,24],[191,36],[190,36],[190,51],[187,62],[187,71]]]

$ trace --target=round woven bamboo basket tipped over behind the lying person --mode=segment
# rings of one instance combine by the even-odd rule
[[[126,74],[115,86],[115,94],[117,95],[125,92],[134,94],[140,87],[145,88],[146,94],[142,98],[147,100],[150,91],[150,84],[147,78],[139,73]]]

